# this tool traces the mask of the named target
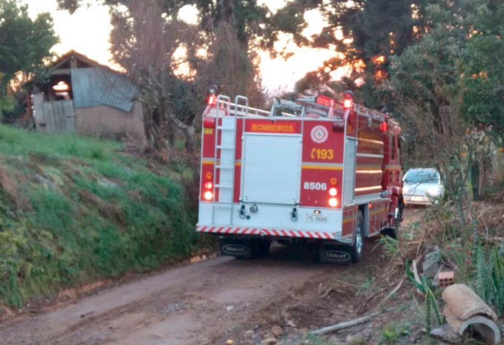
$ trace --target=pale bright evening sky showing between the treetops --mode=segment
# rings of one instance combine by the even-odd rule
[[[285,0],[262,0],[262,2],[267,3],[272,11],[285,4]],[[62,55],[73,49],[102,64],[114,67],[109,52],[109,33],[112,27],[107,7],[99,5],[81,7],[70,15],[67,11],[57,11],[56,0],[22,0],[22,3],[29,6],[29,14],[33,18],[41,12],[49,12],[52,15],[54,30],[60,38],[60,43],[52,49],[55,54]],[[187,9],[185,16],[191,20],[195,17],[195,13]],[[308,12],[306,19],[309,23],[305,29],[306,35],[320,32],[323,22],[316,11]],[[291,91],[294,83],[307,72],[316,70],[325,60],[336,55],[334,51],[326,49],[300,49],[285,41],[279,44],[287,44],[289,51],[294,52],[287,61],[282,58],[271,59],[266,52],[260,53],[263,83],[271,92]]]

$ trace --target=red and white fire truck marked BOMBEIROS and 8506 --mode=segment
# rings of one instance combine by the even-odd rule
[[[203,113],[196,231],[222,255],[314,244],[322,262],[358,262],[364,239],[402,221],[401,128],[389,115],[323,95],[270,110],[211,91]]]

